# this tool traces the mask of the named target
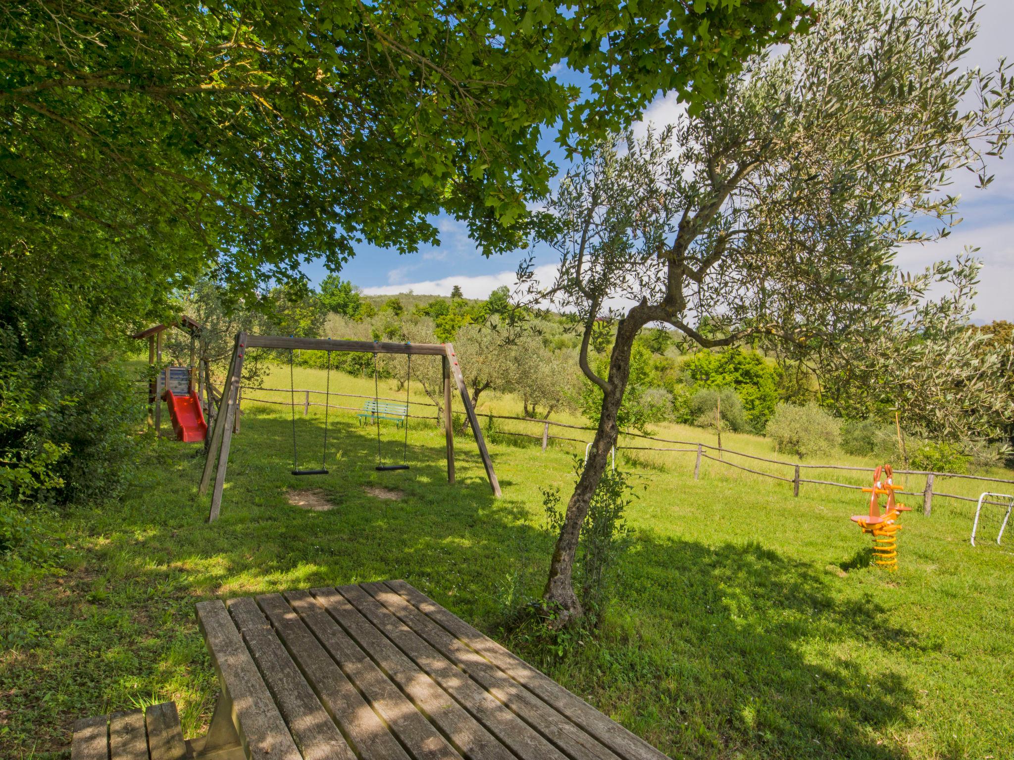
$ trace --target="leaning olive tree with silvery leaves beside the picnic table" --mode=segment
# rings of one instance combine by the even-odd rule
[[[1004,65],[961,69],[976,30],[974,7],[962,6],[825,0],[808,35],[751,61],[725,98],[661,135],[601,144],[561,183],[550,204],[563,230],[559,274],[533,295],[583,319],[580,366],[602,413],[546,587],[558,621],[581,614],[573,559],[638,331],[662,322],[706,348],[764,338],[797,352],[876,333],[913,295],[894,248],[933,234],[912,222],[953,222],[954,171],[989,182],[1014,82]],[[596,373],[587,349],[610,305],[620,319]]]

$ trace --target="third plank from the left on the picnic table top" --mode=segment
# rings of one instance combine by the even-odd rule
[[[364,760],[408,760],[409,756],[397,740],[366,704],[289,603],[279,594],[259,596],[257,602],[356,753]]]

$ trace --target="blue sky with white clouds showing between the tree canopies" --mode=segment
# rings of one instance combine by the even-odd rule
[[[1001,56],[1012,52],[1010,30],[1014,28],[1014,2],[987,0],[980,13],[980,33],[966,58],[968,66],[984,69],[996,66]],[[573,76],[563,70],[561,79]],[[659,95],[645,115],[645,121],[656,125],[670,120],[678,106],[671,97]],[[551,150],[558,165],[563,156],[552,142],[544,138],[545,149]],[[992,167],[996,179],[989,188],[973,187],[971,174],[955,178],[950,188],[962,196],[963,221],[950,237],[928,245],[906,246],[898,252],[897,262],[910,271],[922,270],[940,258],[960,253],[964,246],[981,248],[976,254],[985,261],[976,299],[976,321],[1008,319],[1014,321],[1014,154]],[[400,255],[396,251],[363,245],[357,255],[342,271],[366,293],[415,293],[447,295],[459,285],[466,297],[485,298],[500,285],[512,285],[518,261],[531,251],[517,251],[490,258],[483,256],[468,238],[463,224],[449,217],[434,220],[440,230],[440,245],[423,248],[418,253]],[[536,265],[551,267],[555,256],[548,249],[535,249]],[[307,275],[315,284],[327,274],[322,264],[307,267]]]

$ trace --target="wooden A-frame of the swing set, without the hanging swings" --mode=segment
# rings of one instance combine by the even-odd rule
[[[479,454],[486,468],[486,477],[490,481],[493,495],[500,497],[500,483],[493,470],[493,460],[486,448],[486,441],[479,428],[476,409],[468,397],[464,385],[461,368],[457,363],[457,355],[452,344],[393,344],[376,340],[332,340],[320,337],[287,337],[282,335],[254,335],[247,332],[236,333],[232,358],[222,387],[222,403],[215,415],[215,425],[211,433],[210,443],[204,460],[204,471],[201,473],[201,485],[198,493],[203,497],[211,484],[211,473],[215,472],[215,485],[211,493],[211,511],[208,522],[218,519],[222,509],[222,489],[225,486],[225,471],[229,464],[229,446],[232,443],[233,425],[237,413],[239,386],[243,374],[243,357],[249,349],[288,349],[290,351],[340,351],[358,354],[406,354],[415,356],[440,357],[443,365],[444,393],[444,436],[447,451],[447,482],[454,482],[454,431],[450,414],[452,397],[451,383],[457,386],[461,395],[464,411],[468,415],[472,432],[479,446]],[[217,463],[217,467],[216,467]]]

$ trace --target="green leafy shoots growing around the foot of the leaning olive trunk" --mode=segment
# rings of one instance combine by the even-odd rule
[[[581,460],[575,459],[578,474],[582,467]],[[541,492],[547,528],[551,535],[558,536],[566,514],[562,508],[560,486],[544,487]],[[622,470],[606,470],[598,481],[588,514],[581,525],[574,575],[578,598],[586,610],[589,627],[593,628],[601,621],[618,560],[631,546],[626,513],[633,502],[634,488],[627,474]]]

